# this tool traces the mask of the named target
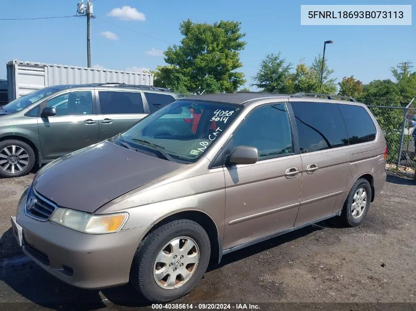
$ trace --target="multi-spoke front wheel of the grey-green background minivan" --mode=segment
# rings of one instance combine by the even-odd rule
[[[0,177],[18,177],[29,173],[36,162],[30,145],[18,140],[0,141]]]

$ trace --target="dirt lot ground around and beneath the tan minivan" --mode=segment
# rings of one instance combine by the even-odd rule
[[[73,288],[24,256],[12,236],[9,216],[32,177],[0,179],[0,309],[144,306],[129,285],[102,291]],[[361,226],[342,228],[336,219],[318,225],[224,256],[221,265],[177,303],[300,302],[305,305],[261,305],[260,310],[322,310],[330,305],[313,304],[329,302],[354,303],[331,310],[416,310],[414,180],[388,176]],[[413,304],[362,304],[378,302]]]

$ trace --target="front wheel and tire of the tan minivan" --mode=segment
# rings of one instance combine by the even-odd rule
[[[191,220],[176,220],[151,232],[139,245],[130,282],[151,302],[168,302],[192,290],[211,254],[208,234]]]

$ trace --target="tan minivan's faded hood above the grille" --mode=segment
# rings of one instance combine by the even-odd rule
[[[58,206],[93,213],[112,199],[183,166],[105,141],[41,169],[33,186]]]

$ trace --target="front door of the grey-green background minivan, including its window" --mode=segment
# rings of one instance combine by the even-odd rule
[[[73,91],[42,103],[56,115],[38,119],[39,139],[45,159],[55,159],[98,142],[98,117],[91,91]]]

